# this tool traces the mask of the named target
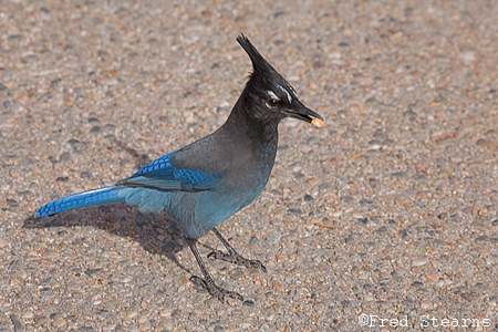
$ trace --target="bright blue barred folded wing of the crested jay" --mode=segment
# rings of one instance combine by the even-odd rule
[[[173,166],[170,153],[141,168],[133,176],[118,181],[125,187],[147,187],[167,191],[200,191],[217,186],[220,175]]]

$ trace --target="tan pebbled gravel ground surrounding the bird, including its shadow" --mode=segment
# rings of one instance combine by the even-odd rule
[[[485,0],[0,2],[0,331],[495,331],[497,21]],[[224,123],[240,32],[328,120],[282,123],[266,191],[219,227],[268,268],[208,261],[243,303],[188,281],[160,218],[32,219]]]

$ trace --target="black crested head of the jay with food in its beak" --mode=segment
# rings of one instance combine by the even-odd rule
[[[294,89],[268,63],[249,39],[241,34],[237,41],[252,61],[253,71],[246,85],[250,116],[263,122],[278,123],[284,117],[294,117],[318,127],[324,124],[323,117],[304,106]]]

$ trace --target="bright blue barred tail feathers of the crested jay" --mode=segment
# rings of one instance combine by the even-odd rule
[[[124,200],[118,193],[120,190],[112,186],[62,197],[39,208],[34,217],[52,216],[65,210]]]

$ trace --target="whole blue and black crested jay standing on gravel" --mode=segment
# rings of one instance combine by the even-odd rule
[[[35,217],[124,201],[144,212],[165,214],[177,222],[203,271],[191,282],[224,302],[242,300],[218,287],[197,250],[197,240],[209,230],[228,253],[208,255],[266,271],[258,260],[239,256],[215,228],[251,204],[264,189],[273,167],[278,125],[286,117],[321,126],[322,116],[305,107],[295,91],[241,34],[237,41],[249,54],[253,71],[226,123],[212,134],[146,165],[114,186],[56,199],[39,208]]]

